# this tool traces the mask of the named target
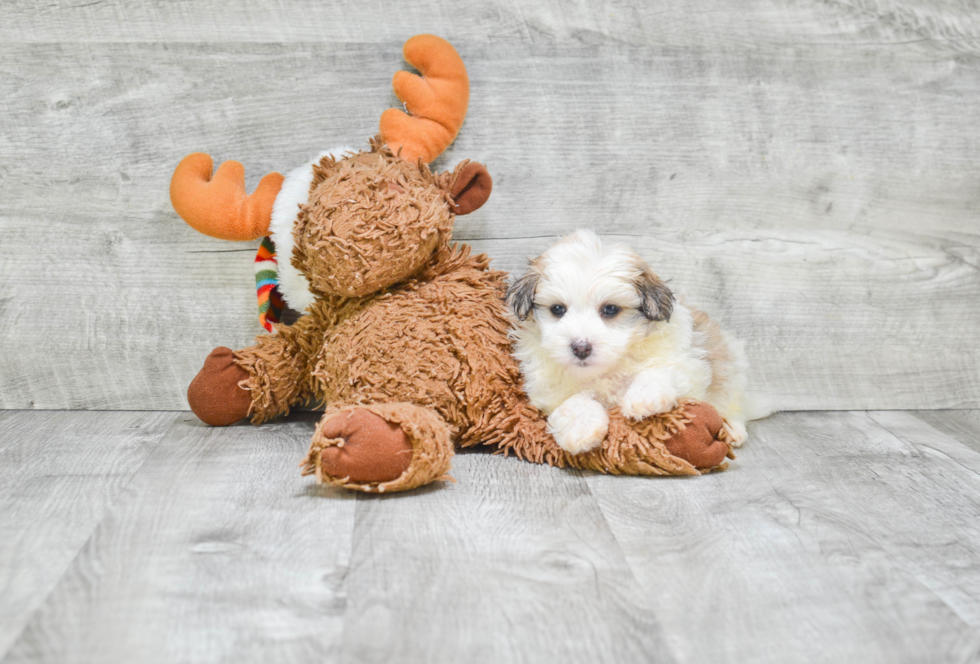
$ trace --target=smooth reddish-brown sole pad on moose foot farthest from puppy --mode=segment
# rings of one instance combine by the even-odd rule
[[[412,463],[412,443],[402,428],[363,408],[334,415],[319,434],[342,441],[320,455],[323,472],[332,477],[358,484],[391,482]]]

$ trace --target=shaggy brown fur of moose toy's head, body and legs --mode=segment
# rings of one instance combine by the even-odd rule
[[[453,443],[606,473],[698,474],[696,466],[711,456],[698,444],[709,447],[716,436],[708,428],[689,431],[700,417],[689,404],[639,423],[614,411],[606,441],[588,454],[571,456],[557,446],[528,404],[510,353],[505,274],[489,269],[486,256],[450,244],[451,192],[479,173],[472,167],[434,175],[377,141],[369,152],[316,167],[297,221],[293,264],[317,298],[294,325],[234,355],[247,372],[253,422],[309,399],[329,406],[304,472],[361,491],[399,491],[445,477]],[[402,439],[377,422],[373,434],[370,427],[362,437],[352,433],[358,448],[364,442],[363,454],[330,449],[352,440],[336,418],[361,411],[398,425],[411,443],[411,461],[397,477],[400,463],[382,464],[383,445],[370,441],[381,432],[401,454]],[[685,431],[674,447],[693,465],[666,443]]]

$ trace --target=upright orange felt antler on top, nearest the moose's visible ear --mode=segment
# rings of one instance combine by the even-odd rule
[[[381,138],[394,152],[425,163],[456,138],[470,100],[466,66],[452,44],[435,35],[416,35],[403,48],[405,60],[422,76],[400,71],[391,86],[411,115],[389,108],[381,114]]]

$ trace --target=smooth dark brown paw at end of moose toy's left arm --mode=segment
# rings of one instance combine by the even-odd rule
[[[251,392],[238,386],[247,378],[248,372],[235,364],[230,348],[215,348],[187,388],[187,403],[205,424],[234,424],[247,417],[252,406]]]

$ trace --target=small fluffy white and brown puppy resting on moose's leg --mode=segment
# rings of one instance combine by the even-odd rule
[[[710,403],[736,446],[744,442],[741,344],[677,302],[629,247],[575,231],[530,262],[507,303],[528,397],[562,449],[602,442],[608,408],[639,420],[683,397]]]

